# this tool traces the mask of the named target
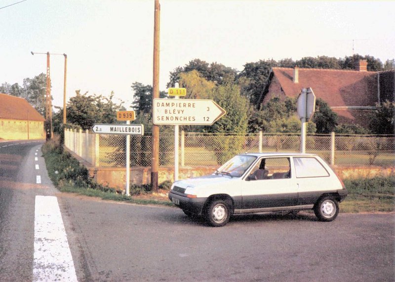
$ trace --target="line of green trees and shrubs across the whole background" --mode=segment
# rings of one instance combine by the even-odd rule
[[[300,60],[291,58],[279,61],[268,59],[250,62],[238,71],[221,63],[207,63],[200,59],[191,60],[185,66],[175,68],[169,74],[167,87],[187,89],[186,98],[213,99],[227,114],[212,126],[183,126],[189,132],[207,133],[256,133],[258,131],[273,133],[298,133],[301,123],[296,116],[296,100],[287,98],[284,101],[272,99],[269,103],[258,107],[259,98],[266,86],[273,67],[298,66],[300,68],[332,68],[354,69],[354,62],[367,60],[368,71],[395,69],[395,61],[387,60],[384,64],[373,56],[346,56],[334,58],[327,56],[304,57]],[[23,86],[17,83],[3,83],[0,93],[25,98],[42,115],[45,115],[45,74],[33,79],[26,78]],[[137,111],[135,123],[145,125],[147,135],[152,126],[152,86],[135,82],[131,85],[134,95],[133,108]],[[166,97],[165,91],[160,97]],[[125,109],[123,103],[113,102],[114,94],[109,97],[96,94],[81,94],[79,90],[67,104],[67,120],[69,123],[89,129],[94,123],[115,123],[116,111]],[[370,116],[369,128],[352,124],[338,124],[337,115],[321,99],[317,99],[317,109],[313,121],[308,124],[309,133],[326,134],[331,131],[343,134],[394,134],[394,102],[383,103]],[[62,123],[62,109],[53,116],[54,128]],[[161,127],[161,131],[171,131],[172,127]]]

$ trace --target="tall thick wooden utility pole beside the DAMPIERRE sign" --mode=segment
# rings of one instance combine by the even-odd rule
[[[159,98],[159,31],[160,31],[160,4],[155,0],[154,12],[154,78],[152,95],[152,117],[154,120],[154,99]],[[158,192],[159,169],[159,126],[152,126],[152,162],[151,162],[151,190]]]

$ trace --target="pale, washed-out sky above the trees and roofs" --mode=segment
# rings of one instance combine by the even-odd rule
[[[46,73],[67,54],[67,101],[133,100],[153,83],[154,0],[0,0],[0,85]],[[11,5],[5,8],[4,6]],[[160,0],[159,88],[193,59],[238,71],[248,62],[330,56],[395,58],[395,1]],[[353,44],[354,40],[354,44]],[[50,56],[52,104],[63,106],[64,56]]]

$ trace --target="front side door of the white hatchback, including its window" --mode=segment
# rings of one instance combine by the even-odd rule
[[[261,172],[256,173],[258,170]],[[289,157],[262,158],[250,171],[241,187],[244,209],[293,206],[297,186]]]

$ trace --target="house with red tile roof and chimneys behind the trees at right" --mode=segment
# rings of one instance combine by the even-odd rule
[[[356,70],[274,67],[260,98],[260,105],[271,98],[298,97],[302,88],[311,87],[338,114],[339,123],[367,126],[368,114],[376,103],[394,101],[395,71],[368,72],[366,60]]]

